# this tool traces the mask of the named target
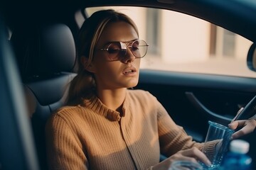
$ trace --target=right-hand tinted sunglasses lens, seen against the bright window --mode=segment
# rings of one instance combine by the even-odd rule
[[[148,45],[144,40],[136,40],[129,47],[135,57],[142,58],[146,55]]]

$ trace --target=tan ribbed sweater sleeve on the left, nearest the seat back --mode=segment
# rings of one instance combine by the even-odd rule
[[[87,158],[74,130],[58,113],[46,124],[49,169],[87,169]]]

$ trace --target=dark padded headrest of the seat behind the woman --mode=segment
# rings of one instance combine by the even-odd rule
[[[19,30],[11,43],[23,79],[70,72],[75,64],[75,41],[64,24]]]

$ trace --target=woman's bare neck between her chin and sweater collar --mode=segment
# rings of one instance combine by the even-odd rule
[[[105,89],[97,91],[97,97],[100,98],[100,101],[108,108],[122,112],[122,103],[124,103],[126,93],[126,88],[114,90]]]

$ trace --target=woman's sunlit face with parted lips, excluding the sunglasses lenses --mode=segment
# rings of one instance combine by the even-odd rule
[[[134,87],[139,80],[140,59],[134,57],[127,49],[126,54],[118,54],[120,60],[110,60],[107,48],[111,42],[132,42],[138,35],[134,28],[125,22],[110,23],[103,30],[100,40],[95,47],[91,71],[95,74],[97,89],[120,89]]]

